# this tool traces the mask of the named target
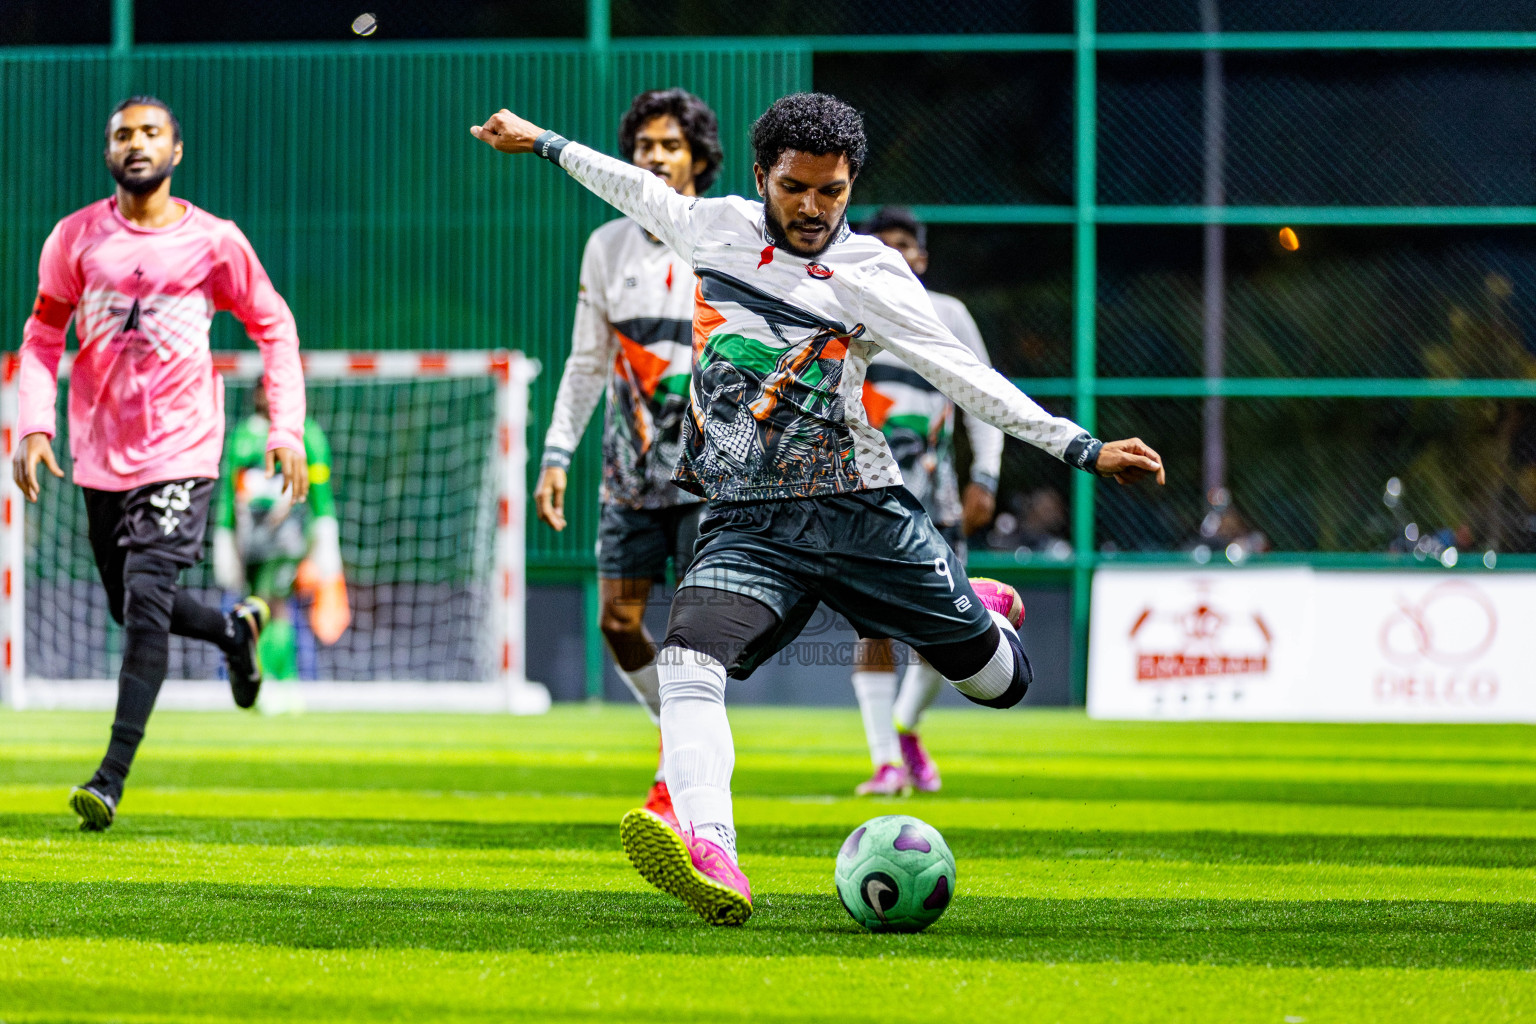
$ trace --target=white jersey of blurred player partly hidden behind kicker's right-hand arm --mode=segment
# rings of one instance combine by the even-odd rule
[[[965,302],[942,292],[929,292],[928,298],[949,333],[991,365],[982,332]],[[869,422],[885,434],[906,490],[935,524],[958,525],[963,510],[954,462],[954,404],[889,352],[877,352],[865,372],[863,407]],[[1003,465],[1003,431],[971,413],[965,413],[965,428],[971,441],[971,481],[995,493]]]

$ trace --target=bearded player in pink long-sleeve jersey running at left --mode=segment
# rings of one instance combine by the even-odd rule
[[[240,318],[261,348],[272,408],[267,471],[283,473],[293,500],[309,491],[293,315],[233,223],[170,197],[181,152],[181,126],[163,101],[117,104],[106,127],[117,193],[54,226],[22,341],[22,441],[12,474],[35,502],[38,464],[63,476],[52,450],[54,405],[65,330],[75,324],[69,453],[108,608],[124,636],[106,757],[69,794],[88,831],[108,827],[117,814],[166,679],[169,634],[224,651],[241,708],[261,688],[257,640],[266,605],[247,597],[224,616],[177,583],[203,557],[224,445],[224,382],[207,344],[217,310]]]

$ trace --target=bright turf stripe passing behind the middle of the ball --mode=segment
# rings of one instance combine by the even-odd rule
[[[1212,864],[1189,861],[962,857],[957,892],[1006,898],[1158,900],[1536,900],[1536,872],[1387,864]],[[831,894],[826,857],[742,855],[757,892]],[[167,840],[3,840],[0,881],[332,886],[373,889],[602,889],[644,892],[614,843],[571,849],[250,846]]]

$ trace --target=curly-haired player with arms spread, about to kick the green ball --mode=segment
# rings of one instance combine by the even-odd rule
[[[1009,708],[1031,680],[1018,594],[960,573],[869,425],[860,390],[874,353],[1081,470],[1161,481],[1161,461],[1041,410],[945,329],[900,255],[848,230],[865,135],[834,97],[783,97],[753,126],[762,203],[679,195],[505,109],[472,134],[564,167],[699,278],[676,479],[711,505],[657,656],[680,829],[636,809],[619,835],[648,881],[713,924],[740,924],[753,901],[736,860],[727,676],[750,676],[825,602],[860,636],[912,646],[975,703]]]

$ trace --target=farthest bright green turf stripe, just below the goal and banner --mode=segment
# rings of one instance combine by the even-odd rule
[[[174,686],[174,683],[172,683]],[[0,748],[22,743],[92,746],[104,742],[112,714],[0,709]],[[859,715],[848,708],[733,706],[743,752],[826,755],[863,751]],[[1095,758],[1235,758],[1292,761],[1396,760],[1405,763],[1536,763],[1528,725],[1327,725],[1246,722],[1094,722],[1081,711],[1032,708],[998,714],[938,708],[923,735],[940,758],[1091,754]],[[252,752],[378,751],[654,751],[654,726],[633,705],[556,705],[547,715],[155,714],[146,749],[241,746]]]

